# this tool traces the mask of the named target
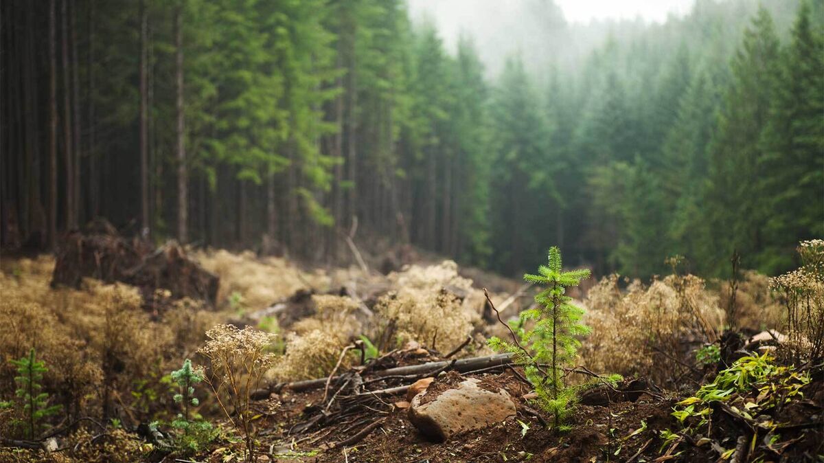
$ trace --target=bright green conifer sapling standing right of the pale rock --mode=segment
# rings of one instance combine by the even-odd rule
[[[574,364],[581,344],[578,336],[589,333],[589,328],[581,323],[583,309],[574,306],[572,298],[564,293],[589,274],[588,269],[564,272],[560,250],[551,247],[547,265],[541,265],[536,275],[524,275],[527,282],[546,287],[535,297],[538,307],[521,312],[519,326],[527,326],[531,320],[531,330],[518,330],[516,334],[510,328],[513,343],[497,337],[489,339],[490,347],[513,353],[516,362],[524,367],[541,407],[555,416],[556,425],[576,400],[576,390],[564,385],[564,368]]]

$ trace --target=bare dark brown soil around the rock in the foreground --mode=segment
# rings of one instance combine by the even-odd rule
[[[428,397],[437,397],[442,391],[466,379],[456,372],[448,372],[439,376],[426,392]],[[574,414],[569,417],[567,424],[571,427],[568,432],[548,430],[541,425],[539,419],[531,413],[536,405],[529,404],[523,395],[529,387],[522,383],[511,372],[475,375],[480,379],[480,386],[491,391],[503,388],[512,395],[517,404],[517,416],[507,419],[489,428],[461,433],[447,442],[429,442],[421,436],[406,418],[405,409],[393,408],[386,414],[359,414],[349,418],[349,423],[333,424],[309,434],[308,439],[297,443],[292,453],[276,457],[274,461],[304,461],[312,463],[332,463],[349,461],[356,462],[386,462],[386,463],[456,463],[456,462],[499,462],[499,461],[531,461],[565,463],[574,461],[654,461],[662,455],[661,447],[664,442],[660,431],[679,429],[677,421],[672,417],[672,407],[676,405],[675,398],[654,398],[641,395],[631,401],[621,396],[620,401],[608,403],[606,406],[578,405]],[[821,381],[817,382],[821,387]],[[813,386],[813,385],[811,385]],[[810,388],[810,392],[815,392]],[[281,430],[285,432],[290,423],[301,419],[301,409],[306,405],[319,402],[322,391],[312,391],[307,394],[284,395],[281,397],[283,406],[279,410]],[[387,402],[402,400],[386,399]],[[427,399],[424,399],[427,400]],[[428,399],[432,400],[432,399]],[[812,402],[812,401],[811,401]],[[810,407],[812,405],[808,405]],[[806,422],[810,418],[812,408],[799,409],[805,405],[787,407],[782,416],[787,419]],[[544,419],[551,423],[550,417]],[[362,441],[353,447],[336,447],[312,452],[318,448],[329,446],[330,442],[339,442],[355,433],[375,420],[382,420],[382,424],[372,431]],[[634,433],[639,428],[646,428]],[[719,423],[719,427],[724,426]],[[524,428],[528,427],[526,433]],[[726,430],[734,436],[732,428]],[[824,430],[805,429],[804,432],[817,433],[819,437]],[[802,431],[795,431],[801,435]],[[788,433],[788,437],[789,437]],[[317,437],[321,438],[317,438]],[[274,435],[272,437],[275,437]],[[280,434],[280,447],[286,448],[283,442],[291,442],[291,438]],[[812,436],[810,436],[812,437]],[[296,440],[301,439],[297,437]],[[806,461],[807,456],[814,456],[820,451],[821,439],[807,438],[803,446],[796,446],[786,451],[788,458],[785,461]],[[723,442],[727,448],[734,447],[734,442]],[[278,446],[275,446],[276,448]],[[816,450],[815,447],[819,447]],[[700,463],[717,461],[718,453],[709,446],[679,447],[683,452],[668,461],[689,461]],[[664,449],[666,451],[666,448]],[[807,456],[805,456],[805,452]]]

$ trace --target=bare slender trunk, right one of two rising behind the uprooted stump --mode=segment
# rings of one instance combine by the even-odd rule
[[[186,221],[189,217],[188,177],[186,175],[186,147],[184,138],[185,115],[183,107],[183,13],[175,8],[175,47],[177,82],[177,239],[188,240]]]

